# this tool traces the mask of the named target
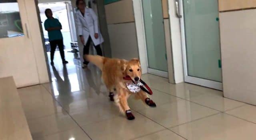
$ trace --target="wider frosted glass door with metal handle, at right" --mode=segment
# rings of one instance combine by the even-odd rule
[[[218,0],[176,0],[176,8],[185,82],[222,90]]]

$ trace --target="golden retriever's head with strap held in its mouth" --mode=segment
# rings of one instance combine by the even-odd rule
[[[124,76],[130,76],[134,82],[139,82],[142,72],[138,59],[134,58],[128,61],[122,69],[124,70]]]

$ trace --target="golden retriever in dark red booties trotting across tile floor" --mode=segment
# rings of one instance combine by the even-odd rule
[[[106,58],[98,55],[85,55],[86,60],[95,64],[102,71],[102,79],[110,91],[111,101],[115,101],[122,113],[126,113],[128,120],[135,119],[127,99],[130,95],[135,95],[135,99],[141,99],[146,105],[156,107],[146,92],[140,90],[138,93],[131,92],[126,85],[138,83],[142,72],[140,61],[136,58],[128,61],[124,59]],[[132,80],[125,80],[124,77],[130,76]]]

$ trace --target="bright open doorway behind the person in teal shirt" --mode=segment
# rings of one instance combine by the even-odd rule
[[[48,58],[50,57],[50,43],[48,39],[48,31],[44,29],[44,21],[47,19],[44,11],[48,8],[52,10],[53,17],[58,19],[62,24],[61,32],[63,36],[65,57],[69,57],[68,58],[69,60],[72,60],[74,64],[77,64],[78,66],[80,66],[79,64],[80,56],[78,54],[79,49],[78,49],[76,27],[75,27],[75,21],[74,21],[74,10],[72,9],[71,1],[38,4],[38,9],[40,12],[39,16],[41,19],[42,32],[44,36],[43,41],[45,43]],[[58,51],[58,47],[56,48],[56,51]],[[55,54],[58,55],[59,53],[55,52]]]

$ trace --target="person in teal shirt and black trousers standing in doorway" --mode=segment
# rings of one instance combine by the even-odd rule
[[[62,25],[58,19],[52,17],[52,10],[46,9],[45,16],[47,19],[44,21],[44,28],[48,31],[49,42],[51,46],[51,64],[53,65],[54,52],[58,45],[60,50],[60,56],[62,58],[62,63],[66,64],[68,61],[65,60],[64,54],[64,45],[63,45],[63,37],[61,33]]]

